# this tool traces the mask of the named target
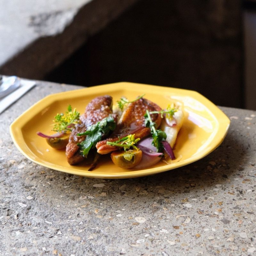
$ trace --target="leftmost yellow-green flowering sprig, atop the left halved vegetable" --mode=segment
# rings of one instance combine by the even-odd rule
[[[72,108],[68,105],[68,111],[63,113],[57,114],[54,116],[53,122],[55,123],[53,126],[52,131],[54,132],[68,132],[71,131],[73,126],[79,122],[80,113],[76,111],[74,108],[72,112]]]

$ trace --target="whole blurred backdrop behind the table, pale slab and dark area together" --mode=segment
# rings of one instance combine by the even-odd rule
[[[177,87],[256,110],[256,0],[32,2],[0,15],[1,75]]]

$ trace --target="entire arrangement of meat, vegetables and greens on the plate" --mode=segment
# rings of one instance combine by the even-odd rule
[[[180,106],[172,103],[162,109],[144,95],[132,101],[122,97],[112,106],[110,95],[92,99],[82,115],[69,105],[65,114],[55,116],[52,131],[57,133],[37,135],[46,138],[52,148],[65,149],[70,165],[90,163],[88,171],[106,154],[124,169],[175,159],[172,148],[184,120]]]

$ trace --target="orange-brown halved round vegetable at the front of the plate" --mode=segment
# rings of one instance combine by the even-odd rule
[[[142,151],[137,149],[132,149],[128,151],[113,151],[111,153],[111,159],[117,166],[129,169],[133,168],[140,163],[142,158]]]

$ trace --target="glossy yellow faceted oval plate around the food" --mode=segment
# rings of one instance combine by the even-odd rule
[[[70,104],[80,113],[93,98],[109,94],[115,103],[122,96],[129,100],[145,93],[145,98],[166,108],[170,102],[181,102],[185,121],[178,134],[174,154],[176,160],[168,164],[160,161],[151,168],[122,169],[114,165],[109,155],[103,156],[97,168],[88,172],[88,166],[71,166],[64,151],[51,148],[36,132],[51,133],[51,125],[57,113],[65,112]],[[20,152],[31,161],[45,167],[93,178],[134,178],[156,174],[193,163],[217,148],[227,134],[230,121],[211,101],[201,94],[170,87],[146,84],[115,83],[99,85],[69,92],[49,95],[38,101],[10,126],[12,140]]]

